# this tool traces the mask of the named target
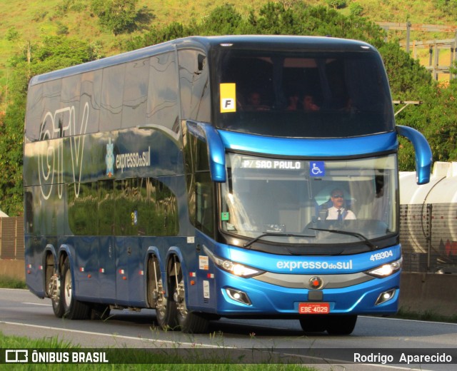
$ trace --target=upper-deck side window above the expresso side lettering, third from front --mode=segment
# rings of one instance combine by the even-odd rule
[[[144,125],[148,98],[148,80],[148,59],[134,61],[126,65],[122,128]]]

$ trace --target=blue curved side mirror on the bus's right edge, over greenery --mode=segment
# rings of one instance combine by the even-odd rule
[[[398,135],[404,136],[413,144],[416,153],[416,183],[426,184],[430,181],[432,153],[422,133],[408,126],[397,125]]]

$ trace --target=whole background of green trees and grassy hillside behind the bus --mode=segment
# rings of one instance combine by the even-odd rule
[[[393,99],[422,101],[397,123],[424,133],[434,161],[456,161],[457,82],[438,84],[419,61],[374,21],[452,24],[456,0],[0,0],[0,207],[22,213],[22,136],[31,76],[191,34],[332,35],[361,39],[383,56]],[[388,36],[389,41],[386,40]],[[453,35],[452,35],[453,36]],[[412,39],[446,39],[418,32]],[[401,170],[413,170],[411,144],[401,140]]]

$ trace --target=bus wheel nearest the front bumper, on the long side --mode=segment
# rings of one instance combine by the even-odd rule
[[[184,284],[184,276],[181,270],[181,264],[175,262],[176,285],[174,292],[174,301],[176,302],[176,309],[178,310],[178,322],[182,332],[200,334],[208,332],[209,321],[201,313],[189,312],[186,306],[186,288]]]

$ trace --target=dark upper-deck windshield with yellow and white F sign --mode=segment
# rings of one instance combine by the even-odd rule
[[[362,48],[345,53],[216,51],[216,126],[295,138],[393,131],[382,61]]]

